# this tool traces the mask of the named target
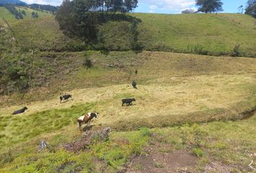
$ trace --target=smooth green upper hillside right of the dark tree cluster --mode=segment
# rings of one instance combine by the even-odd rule
[[[244,14],[132,14],[141,19],[139,43],[150,50],[159,46],[176,51],[219,55],[235,45],[255,54],[256,19]]]

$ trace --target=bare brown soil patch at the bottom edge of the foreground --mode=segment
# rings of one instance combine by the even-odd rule
[[[130,161],[127,173],[162,173],[162,172],[195,172],[196,156],[187,151],[170,151],[167,144],[156,144],[145,149],[147,154],[135,157]]]

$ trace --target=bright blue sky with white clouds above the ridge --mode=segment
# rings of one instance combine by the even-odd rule
[[[51,4],[59,6],[62,0],[23,0],[27,4]],[[246,6],[247,0],[221,0],[223,2],[223,12],[236,13],[238,7]],[[179,14],[184,9],[196,9],[195,0],[139,0],[135,12],[145,13],[165,13]]]

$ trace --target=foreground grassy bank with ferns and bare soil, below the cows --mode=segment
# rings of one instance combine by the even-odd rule
[[[61,143],[80,138],[74,127],[68,127],[34,138],[15,149],[10,146],[1,154],[0,171],[166,172],[171,169],[180,172],[185,169],[189,172],[253,172],[255,123],[254,116],[238,122],[111,132],[108,141],[95,141],[78,154],[60,147]],[[54,153],[47,149],[38,152],[42,138],[56,150]],[[187,163],[176,161],[180,157]],[[168,162],[168,158],[172,161]]]

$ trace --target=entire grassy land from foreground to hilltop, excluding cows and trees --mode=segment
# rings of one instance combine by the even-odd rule
[[[255,54],[255,19],[132,14],[141,19],[138,43],[163,52],[80,51],[85,44],[63,35],[52,14],[32,19],[33,10],[17,8],[25,19],[0,7],[9,23],[0,19],[0,172],[253,172],[256,58],[219,55],[240,43],[245,56]],[[101,28],[113,35],[113,25]],[[22,80],[31,86],[24,93]],[[60,104],[64,93],[73,100]],[[127,97],[136,102],[122,107]],[[89,133],[109,126],[109,139],[67,151],[82,138],[77,117],[92,111],[100,116]],[[52,148],[39,152],[41,140]]]

